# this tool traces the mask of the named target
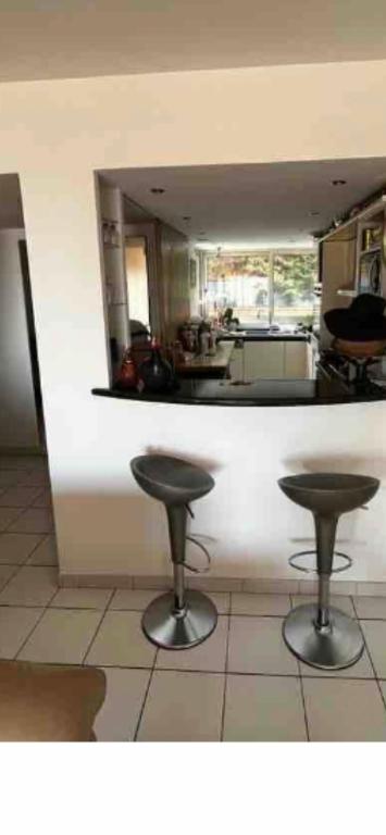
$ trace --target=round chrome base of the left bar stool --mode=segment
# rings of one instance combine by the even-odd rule
[[[217,623],[217,611],[201,591],[185,591],[185,609],[175,608],[173,591],[157,597],[142,616],[145,635],[163,649],[188,649],[208,638]]]

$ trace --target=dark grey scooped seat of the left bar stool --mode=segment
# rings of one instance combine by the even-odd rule
[[[142,490],[164,504],[189,504],[214,487],[202,468],[171,456],[138,456],[132,471]]]

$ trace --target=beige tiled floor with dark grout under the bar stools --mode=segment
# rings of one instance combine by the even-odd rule
[[[58,588],[49,499],[42,461],[0,459],[0,658],[101,666],[98,739],[386,740],[386,598],[335,598],[366,643],[337,673],[284,645],[283,616],[308,600],[298,595],[213,593],[213,635],[157,650],[140,628],[157,590]]]

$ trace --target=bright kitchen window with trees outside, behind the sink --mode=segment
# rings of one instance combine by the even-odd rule
[[[314,252],[247,252],[207,257],[208,315],[233,308],[240,322],[309,324],[316,282]]]

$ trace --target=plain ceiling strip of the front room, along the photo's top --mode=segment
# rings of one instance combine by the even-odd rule
[[[384,0],[0,2],[3,82],[384,58]]]

